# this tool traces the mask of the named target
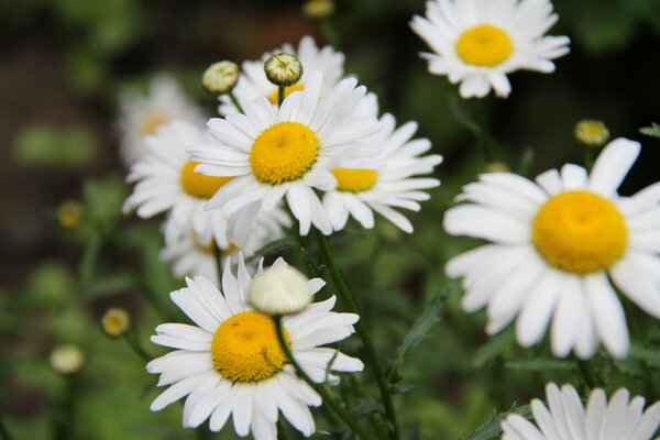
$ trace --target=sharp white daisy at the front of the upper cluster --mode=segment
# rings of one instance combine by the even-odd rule
[[[235,176],[206,205],[221,208],[229,218],[234,243],[242,245],[258,213],[283,198],[298,219],[301,235],[311,224],[330,234],[332,226],[314,189],[334,188],[332,162],[341,157],[346,167],[377,167],[377,161],[369,157],[374,148],[360,142],[378,130],[378,121],[351,116],[365,88],[344,79],[327,97],[319,97],[322,84],[317,72],[305,90],[289,95],[277,110],[262,96],[245,105],[245,114],[211,119],[207,125],[216,143],[188,148],[201,163],[199,172]]]

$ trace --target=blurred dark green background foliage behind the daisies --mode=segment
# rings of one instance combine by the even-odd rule
[[[660,142],[638,129],[660,120],[660,2],[554,6],[560,21],[551,33],[571,37],[571,54],[557,62],[556,74],[514,74],[507,100],[461,101],[454,86],[427,73],[418,57],[426,47],[407,24],[424,13],[421,0],[340,0],[326,23],[346,54],[346,73],[376,91],[399,122],[417,120],[419,134],[444,155],[443,185],[413,216],[415,234],[381,222],[332,238],[384,358],[424,305],[448,283],[453,287],[441,322],[400,372],[397,405],[410,439],[464,438],[494,411],[541,395],[548,380],[580,383],[576,363],[552,360],[547,343],[521,350],[512,329],[488,340],[483,314],[462,312],[459,287],[443,275],[444,262],[474,244],[447,240],[441,219],[460,187],[486,166],[477,144],[497,140],[499,160],[531,176],[579,162],[573,127],[596,118],[614,138],[644,143],[623,193],[658,179]],[[326,42],[298,1],[0,0],[0,420],[15,439],[53,436],[70,378],[47,358],[72,342],[87,362],[76,378],[76,431],[68,438],[195,438],[180,428],[179,406],[148,411],[155,378],[129,345],[100,331],[105,310],[124,307],[138,341],[155,356],[162,351],[147,342],[153,328],[183,319],[167,298],[183,282],[158,262],[157,222],[121,215],[130,188],[118,157],[117,97],[169,72],[212,116],[215,102],[199,87],[208,64],[255,59],[305,34]],[[644,314],[629,321],[638,341],[660,346],[654,321]],[[592,362],[608,389],[624,381],[649,400],[660,398],[660,378],[648,374],[660,366],[658,350],[637,345],[626,361]],[[377,410],[353,404],[362,414]],[[232,438],[226,431],[218,438]]]

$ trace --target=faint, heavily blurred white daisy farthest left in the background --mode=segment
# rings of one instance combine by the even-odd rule
[[[157,76],[146,96],[135,89],[120,97],[121,156],[132,166],[146,153],[145,136],[156,133],[158,127],[174,120],[204,124],[201,110],[180,90],[169,76]]]

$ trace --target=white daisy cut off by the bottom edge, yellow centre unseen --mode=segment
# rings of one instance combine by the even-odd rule
[[[517,414],[502,422],[502,440],[650,440],[660,425],[660,403],[646,411],[645,398],[630,399],[619,388],[607,402],[605,392],[591,393],[586,408],[571,385],[546,386],[548,406],[531,400],[536,425]]]

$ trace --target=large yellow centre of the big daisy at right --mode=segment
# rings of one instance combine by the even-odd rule
[[[586,274],[606,270],[622,256],[628,230],[612,201],[591,191],[566,191],[541,207],[532,241],[549,264]]]

